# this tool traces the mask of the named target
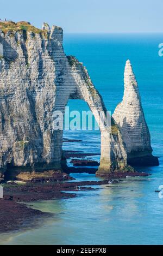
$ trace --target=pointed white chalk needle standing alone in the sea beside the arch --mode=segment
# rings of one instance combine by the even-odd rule
[[[127,147],[127,162],[130,165],[158,165],[152,156],[151,137],[143,113],[139,88],[128,60],[124,70],[123,100],[112,115],[121,129]]]

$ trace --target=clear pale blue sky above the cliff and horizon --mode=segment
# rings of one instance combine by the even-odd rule
[[[162,32],[162,0],[0,0],[1,19],[65,32]]]

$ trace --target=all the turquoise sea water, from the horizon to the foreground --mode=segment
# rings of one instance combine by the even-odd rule
[[[76,56],[89,70],[106,108],[114,111],[123,96],[123,72],[129,58],[139,83],[143,109],[151,132],[153,154],[160,166],[140,168],[152,176],[128,178],[118,186],[101,186],[78,197],[32,203],[35,209],[55,213],[40,228],[0,236],[1,244],[141,244],[163,243],[163,199],[155,192],[163,184],[163,57],[158,55],[162,34],[66,34],[67,55]],[[88,110],[82,100],[70,100],[70,110]],[[65,150],[100,152],[98,131],[66,131]],[[93,157],[98,159],[99,156]],[[77,181],[98,180],[74,174]],[[31,204],[30,204],[31,205]]]

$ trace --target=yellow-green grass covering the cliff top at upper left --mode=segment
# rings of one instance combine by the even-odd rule
[[[47,35],[46,30],[36,28],[36,27],[30,25],[30,23],[26,22],[26,21],[20,21],[20,22],[17,22],[17,23],[15,23],[13,21],[0,22],[0,29],[4,33],[7,33],[8,31],[10,31],[10,32],[30,31],[30,32],[33,32],[34,34]]]

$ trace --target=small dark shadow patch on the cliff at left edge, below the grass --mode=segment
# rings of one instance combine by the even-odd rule
[[[0,43],[3,46],[3,57],[7,61],[15,61],[15,59],[18,57],[17,52],[11,47],[10,44],[7,43],[6,40],[3,39],[1,35],[0,35]]]

